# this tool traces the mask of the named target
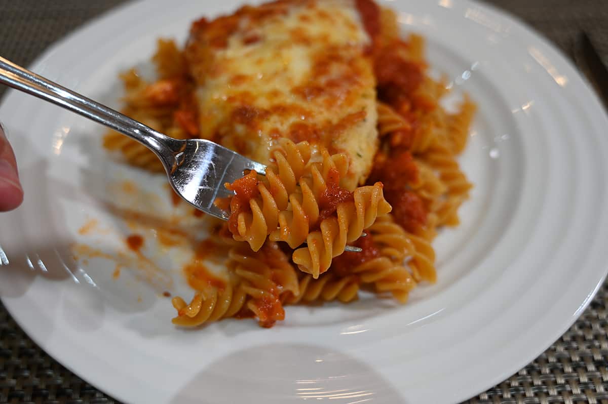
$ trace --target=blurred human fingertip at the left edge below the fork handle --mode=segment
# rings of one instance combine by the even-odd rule
[[[23,200],[15,154],[0,126],[0,212],[15,209]]]

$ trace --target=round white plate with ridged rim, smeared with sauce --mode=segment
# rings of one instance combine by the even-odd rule
[[[193,19],[239,3],[127,5],[52,47],[32,69],[116,105],[117,73],[145,63],[158,36],[184,38]],[[479,106],[461,158],[475,189],[461,226],[435,243],[437,285],[416,290],[404,307],[364,298],[289,307],[288,320],[272,329],[237,320],[175,329],[157,291],[171,281],[173,292],[184,291],[178,273],[155,273],[155,290],[136,281],[141,269],[113,281],[107,261],[74,266],[65,255],[75,240],[118,248],[130,230],[106,202],[162,213],[163,180],[112,163],[99,146],[100,126],[12,91],[0,117],[26,202],[0,217],[11,262],[0,270],[0,295],[33,340],[131,403],[457,402],[556,340],[606,274],[603,109],[570,62],[496,10],[460,0],[386,4],[399,10],[404,31],[427,38],[434,69]],[[137,202],[116,196],[121,177],[148,193]],[[91,218],[111,231],[79,235]],[[162,268],[180,259],[147,253]]]

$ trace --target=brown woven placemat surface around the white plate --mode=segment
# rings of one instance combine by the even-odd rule
[[[0,55],[27,66],[66,33],[123,2],[0,0]],[[608,63],[608,0],[486,2],[526,21],[576,63],[580,63],[579,38],[586,32],[601,60]],[[579,67],[586,70],[582,64]],[[0,89],[0,97],[3,92]],[[608,404],[607,306],[608,282],[547,351],[469,402]],[[50,358],[0,303],[0,403],[116,402]]]

